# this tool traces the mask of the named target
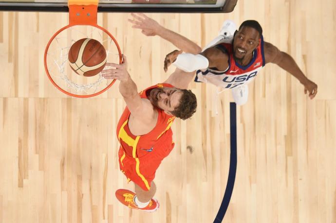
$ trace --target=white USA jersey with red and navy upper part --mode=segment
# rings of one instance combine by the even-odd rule
[[[224,71],[207,68],[197,70],[195,82],[211,83],[223,88],[234,88],[243,84],[248,84],[256,76],[258,71],[265,66],[263,52],[263,38],[259,40],[259,46],[253,51],[251,62],[242,66],[233,58],[233,36],[219,41],[216,47],[228,55],[228,68]]]

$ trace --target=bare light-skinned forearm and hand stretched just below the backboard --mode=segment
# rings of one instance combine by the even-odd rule
[[[133,17],[133,19],[129,19],[129,22],[134,24],[132,27],[136,29],[141,29],[141,32],[147,36],[158,35],[168,40],[178,49],[184,52],[197,54],[202,51],[201,47],[199,47],[196,43],[192,42],[191,40],[180,34],[166,29],[165,27],[161,26],[157,21],[149,18],[143,13],[132,13],[131,16]]]

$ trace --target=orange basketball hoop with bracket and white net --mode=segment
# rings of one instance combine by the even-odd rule
[[[61,92],[78,98],[89,98],[109,89],[115,82],[102,77],[76,74],[68,64],[68,51],[82,38],[99,41],[106,49],[109,63],[122,62],[120,47],[113,35],[97,25],[98,0],[69,0],[69,25],[58,30],[44,51],[44,68],[51,83]]]

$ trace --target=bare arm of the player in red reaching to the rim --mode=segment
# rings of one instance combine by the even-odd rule
[[[150,102],[147,103],[146,100],[141,99],[138,94],[137,86],[127,71],[126,56],[123,54],[122,57],[122,64],[106,63],[106,66],[114,67],[115,69],[103,70],[102,76],[106,79],[116,79],[120,81],[119,91],[134,117],[139,117],[144,121],[146,121],[146,118],[150,120],[154,112],[153,107],[150,105]]]

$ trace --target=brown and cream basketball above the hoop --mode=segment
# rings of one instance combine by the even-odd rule
[[[106,50],[95,39],[80,39],[71,46],[68,60],[76,74],[92,77],[104,69]]]

